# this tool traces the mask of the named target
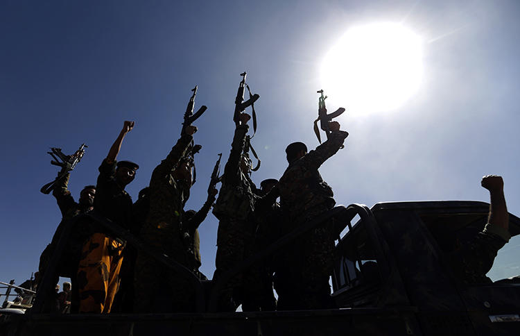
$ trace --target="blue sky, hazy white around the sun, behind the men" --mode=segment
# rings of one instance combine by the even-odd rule
[[[49,147],[88,148],[71,174],[77,199],[94,184],[124,120],[135,128],[118,159],[140,165],[127,187],[134,199],[180,136],[198,85],[198,181],[188,209],[205,201],[218,153],[229,155],[241,72],[248,72],[258,130],[257,185],[279,178],[284,149],[313,133],[322,62],[356,26],[402,24],[422,41],[422,77],[401,106],[349,110],[349,94],[329,110],[349,132],[346,148],[320,168],[338,204],[381,201],[489,201],[485,174],[500,174],[520,215],[520,3],[517,1],[1,1],[0,281],[37,270],[61,215],[40,193],[58,168]],[[378,96],[373,96],[374,100]],[[323,135],[322,135],[323,136]],[[200,227],[202,267],[211,278],[218,222]],[[489,274],[520,274],[520,240],[510,241]]]

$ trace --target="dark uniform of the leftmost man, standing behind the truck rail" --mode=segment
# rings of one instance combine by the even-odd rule
[[[58,174],[59,176],[60,174]],[[73,217],[78,215],[82,215],[85,212],[89,211],[89,207],[82,205],[80,203],[76,203],[74,201],[71,192],[69,192],[68,184],[69,184],[70,174],[65,174],[64,178],[58,180],[53,189],[53,196],[58,202],[58,207],[62,212],[62,221],[56,228],[55,233],[53,235],[53,239],[51,240],[51,244],[48,244],[42,255],[40,255],[40,264],[38,266],[38,270],[40,271],[40,279],[43,278],[47,265],[51,260],[53,253],[55,251],[56,246],[58,245],[58,241],[62,235],[62,231],[64,230],[65,224],[70,221]],[[55,285],[58,284],[58,280],[60,276],[71,278],[72,283],[72,302],[71,302],[71,310],[73,312],[78,311],[78,286],[76,280],[76,272],[78,271],[78,262],[81,255],[81,246],[83,246],[83,242],[89,237],[89,221],[87,219],[80,219],[74,223],[74,227],[71,230],[71,235],[69,236],[69,240],[67,245],[65,246],[64,253],[60,257],[60,261],[58,262],[58,269],[56,269],[56,274],[53,275],[53,285],[50,288],[49,296],[55,296]],[[44,310],[55,310],[55,305],[46,305]]]

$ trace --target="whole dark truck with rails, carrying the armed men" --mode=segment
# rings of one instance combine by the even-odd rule
[[[477,201],[336,207],[222,279],[333,217],[338,232],[344,229],[332,276],[336,309],[214,312],[222,284],[207,282],[200,286],[203,305],[198,312],[42,314],[33,307],[8,321],[8,335],[520,335],[519,281],[465,284],[450,269],[449,251],[440,244],[446,239],[463,242],[483,230],[488,210],[488,203]],[[356,215],[359,220],[351,224]],[[520,233],[514,215],[510,233]]]

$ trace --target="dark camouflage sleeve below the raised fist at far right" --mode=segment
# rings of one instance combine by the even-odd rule
[[[486,224],[469,242],[449,253],[449,263],[456,276],[465,283],[492,283],[485,274],[493,266],[499,249],[510,240],[508,230]]]

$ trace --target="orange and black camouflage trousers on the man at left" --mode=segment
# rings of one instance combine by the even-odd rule
[[[110,312],[119,288],[123,247],[103,233],[94,233],[83,244],[78,266],[80,312]]]

